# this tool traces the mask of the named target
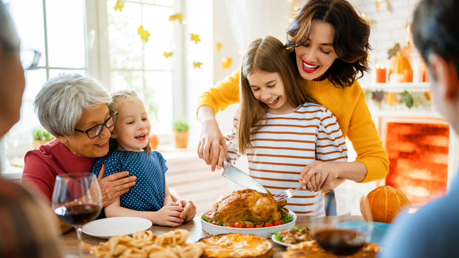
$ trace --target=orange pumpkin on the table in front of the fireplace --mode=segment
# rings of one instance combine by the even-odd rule
[[[390,185],[382,185],[369,192],[368,201],[375,222],[392,223],[400,213],[408,213],[409,201],[406,195]]]

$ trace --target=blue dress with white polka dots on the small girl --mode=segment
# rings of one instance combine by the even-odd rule
[[[159,151],[147,154],[146,151],[111,150],[97,160],[92,173],[97,176],[102,164],[105,164],[104,177],[122,171],[129,171],[129,176],[137,177],[135,185],[120,196],[121,207],[152,212],[162,208],[166,185],[164,173],[168,167]]]

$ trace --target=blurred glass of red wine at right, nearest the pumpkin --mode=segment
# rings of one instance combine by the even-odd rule
[[[361,216],[353,216],[358,215],[353,213],[358,213],[360,202],[360,196],[353,195],[352,199],[337,202],[337,216],[325,216],[325,198],[319,193],[310,228],[313,238],[325,251],[344,257],[358,252],[369,242],[373,225]],[[359,222],[340,225],[347,221]]]

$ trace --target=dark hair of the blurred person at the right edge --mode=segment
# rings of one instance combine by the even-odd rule
[[[452,62],[459,75],[458,11],[457,0],[422,0],[414,11],[412,28],[414,45],[424,60],[436,53]]]

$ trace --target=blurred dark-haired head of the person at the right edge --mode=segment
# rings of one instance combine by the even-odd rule
[[[437,110],[459,132],[459,1],[421,0],[413,19],[414,45],[424,58]]]

